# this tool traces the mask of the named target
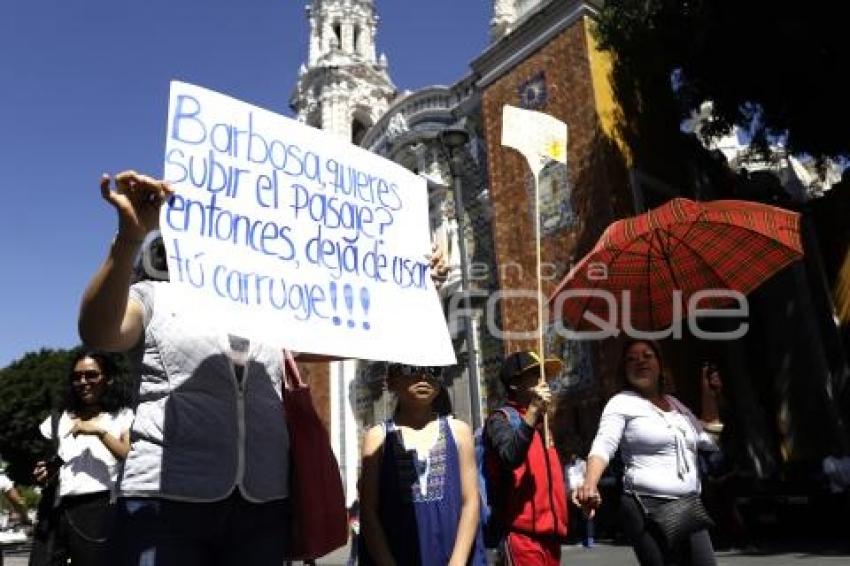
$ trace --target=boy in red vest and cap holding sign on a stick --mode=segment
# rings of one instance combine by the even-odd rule
[[[559,360],[545,360],[546,377],[554,377],[561,367]],[[500,379],[507,403],[487,419],[486,449],[488,476],[498,478],[494,499],[505,532],[506,558],[518,566],[556,566],[567,534],[567,494],[558,452],[551,439],[544,446],[542,434],[552,394],[548,384],[539,383],[540,358],[535,352],[508,356]],[[519,413],[518,427],[506,411]]]

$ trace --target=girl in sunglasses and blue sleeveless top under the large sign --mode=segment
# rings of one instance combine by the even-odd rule
[[[441,368],[390,364],[393,417],[363,441],[360,564],[486,564],[472,431],[450,416]]]

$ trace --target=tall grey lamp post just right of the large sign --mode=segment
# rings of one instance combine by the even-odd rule
[[[478,377],[478,349],[472,320],[472,301],[469,297],[469,260],[466,253],[466,237],[464,236],[464,207],[462,181],[460,176],[460,150],[469,143],[469,132],[464,128],[446,128],[440,132],[440,143],[449,152],[449,170],[452,175],[455,198],[455,217],[458,229],[458,251],[460,252],[460,292],[463,296],[463,306],[466,310],[464,330],[466,331],[467,368],[469,372],[469,396],[472,412],[472,428],[481,426],[481,392]]]

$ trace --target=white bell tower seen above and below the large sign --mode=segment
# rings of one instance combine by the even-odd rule
[[[297,118],[359,144],[396,97],[387,58],[376,56],[373,0],[313,0],[307,61],[290,98]],[[360,434],[358,362],[303,364],[320,418],[340,463],[348,502],[356,497]],[[353,434],[351,434],[353,432]]]

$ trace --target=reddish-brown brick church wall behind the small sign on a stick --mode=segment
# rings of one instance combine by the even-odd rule
[[[546,101],[536,108],[566,122],[567,175],[578,221],[542,239],[543,293],[548,296],[587,252],[602,230],[630,206],[623,160],[600,123],[588,52],[586,19],[578,20],[544,47],[491,84],[482,95],[488,148],[493,237],[502,289],[535,291],[534,222],[529,198],[530,173],[525,160],[501,146],[502,107],[521,106],[520,87],[543,73]],[[532,298],[502,302],[506,330],[533,330],[537,310]],[[506,351],[536,349],[531,340],[506,340]]]

